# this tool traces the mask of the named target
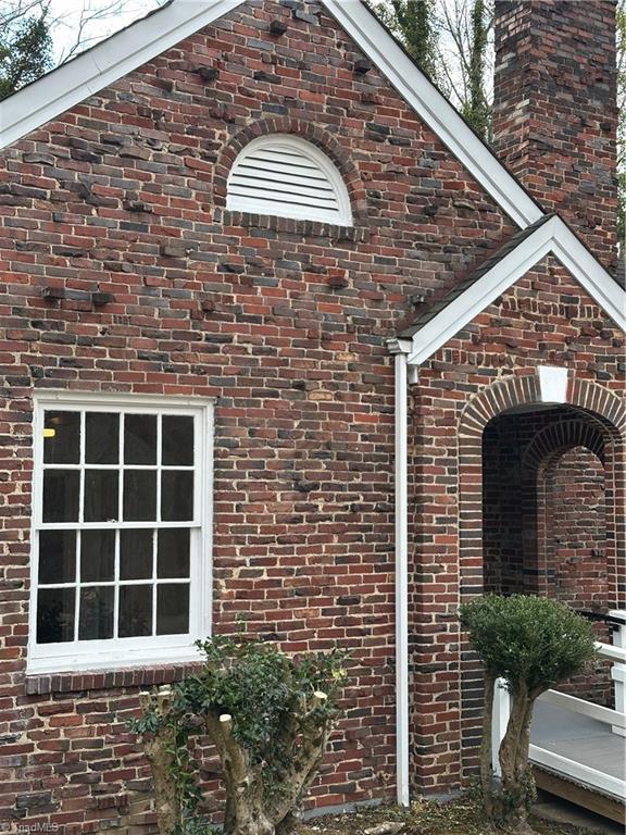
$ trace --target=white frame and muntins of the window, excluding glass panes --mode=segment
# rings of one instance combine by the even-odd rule
[[[30,618],[28,639],[27,674],[42,674],[53,672],[73,672],[80,670],[114,670],[117,668],[139,666],[156,663],[186,662],[199,658],[193,646],[199,638],[206,637],[211,632],[211,601],[212,601],[212,457],[213,457],[213,400],[206,398],[174,398],[174,397],[142,397],[137,395],[100,395],[78,394],[62,391],[45,391],[35,395],[35,413],[33,422],[34,432],[34,476],[33,476],[33,519],[32,519],[32,572],[30,572]],[[156,496],[156,520],[142,522],[42,522],[42,494],[43,470],[48,469],[75,469],[84,473],[85,470],[114,470],[141,469],[148,466],[132,465],[93,465],[85,463],[84,450],[80,450],[80,464],[46,464],[43,465],[43,415],[46,411],[79,411],[79,412],[116,412],[139,414],[185,414],[193,416],[195,421],[195,449],[193,466],[167,466],[164,471],[186,470],[195,472],[195,507],[193,519],[183,522],[161,521],[161,497]],[[82,419],[82,424],[85,419]],[[158,426],[161,427],[161,421]],[[85,444],[85,431],[82,425],[80,445]],[[122,432],[120,432],[120,452],[122,451]],[[152,468],[159,469],[161,457],[161,437],[159,428],[158,463]],[[120,454],[122,461],[122,454]],[[80,476],[84,477],[83,474]],[[158,479],[158,484],[160,479]],[[79,516],[83,515],[84,493],[82,485]],[[120,519],[122,518],[123,489],[120,489]],[[40,531],[89,531],[89,529],[136,529],[136,528],[188,528],[190,532],[189,544],[189,578],[186,577],[156,577],[156,560],[153,557],[152,577],[138,581],[121,581],[118,565],[118,546],[115,548],[115,574],[114,581],[107,582],[79,582],[79,552],[76,559],[76,582],[66,584],[42,584],[46,588],[75,588],[75,636],[78,630],[78,597],[82,587],[110,586],[116,587],[115,610],[113,613],[115,632],[118,616],[118,587],[126,585],[152,586],[152,619],[155,625],[155,596],[159,585],[188,584],[189,585],[189,632],[186,635],[150,635],[130,638],[105,638],[96,640],[73,640],[58,644],[37,644],[37,591],[38,591],[38,537]],[[116,537],[118,541],[118,536]]]

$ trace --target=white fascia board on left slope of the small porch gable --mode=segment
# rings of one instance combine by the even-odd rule
[[[472,322],[494,299],[509,289],[550,251],[552,221],[540,226],[518,247],[485,273],[465,292],[458,296],[440,313],[413,336],[413,351],[408,362],[421,365],[439,348]]]

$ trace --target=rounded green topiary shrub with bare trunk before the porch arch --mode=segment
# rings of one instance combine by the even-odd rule
[[[461,607],[460,620],[485,664],[485,726],[480,752],[483,802],[489,819],[510,832],[528,833],[535,799],[528,765],[535,700],[593,658],[591,624],[567,606],[529,595],[486,595]],[[491,770],[496,680],[511,693],[511,715],[500,745],[502,778]]]

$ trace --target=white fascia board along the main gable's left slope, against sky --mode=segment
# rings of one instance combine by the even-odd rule
[[[0,103],[0,148],[114,84],[243,0],[174,0]]]

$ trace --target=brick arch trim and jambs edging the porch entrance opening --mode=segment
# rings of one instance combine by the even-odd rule
[[[602,461],[606,498],[606,569],[610,608],[624,605],[626,568],[624,516],[624,428],[626,411],[609,389],[587,379],[569,378],[562,404],[542,401],[539,376],[511,375],[486,387],[464,408],[459,423],[459,576],[460,600],[484,588],[484,439],[486,429],[505,415],[531,415],[550,406],[564,420],[530,436],[526,449],[528,472],[535,472],[561,452],[575,447],[589,449]],[[535,485],[534,485],[535,489]],[[475,740],[479,737],[476,707],[481,700],[480,664],[466,643],[461,643],[460,691],[462,697],[463,771],[470,777],[475,767]]]

